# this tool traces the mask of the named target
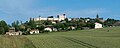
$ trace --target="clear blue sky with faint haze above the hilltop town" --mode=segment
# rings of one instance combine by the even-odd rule
[[[0,20],[8,24],[29,18],[66,14],[68,18],[120,19],[120,0],[0,0]]]

